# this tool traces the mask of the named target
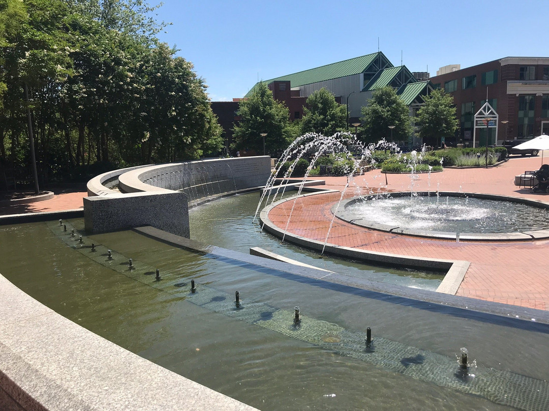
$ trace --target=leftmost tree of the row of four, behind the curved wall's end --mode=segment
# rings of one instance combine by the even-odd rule
[[[240,121],[234,126],[236,149],[253,149],[263,153],[261,133],[267,133],[265,147],[267,153],[281,151],[290,143],[288,108],[273,98],[273,93],[264,83],[258,84],[250,97],[241,100],[237,115]]]

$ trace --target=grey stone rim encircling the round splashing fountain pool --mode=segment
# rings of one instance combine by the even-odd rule
[[[417,192],[419,196],[436,196],[436,192],[427,192],[419,191]],[[464,193],[464,192],[455,192],[455,191],[440,191],[438,192],[439,196],[448,196],[448,197],[470,197],[470,198],[483,198],[483,199],[492,199],[498,201],[508,201],[514,203],[521,203],[531,205],[532,207],[538,208],[549,208],[549,202],[544,202],[540,200],[526,199],[522,197],[509,197],[509,196],[498,196],[485,193]],[[444,231],[432,231],[432,230],[414,230],[407,227],[400,227],[389,224],[379,224],[371,220],[357,220],[357,219],[348,219],[344,215],[345,209],[360,201],[363,197],[374,197],[377,195],[366,195],[361,197],[355,197],[341,201],[339,204],[335,204],[331,211],[335,216],[347,223],[357,225],[360,227],[365,227],[371,230],[390,232],[393,234],[402,234],[414,237],[425,237],[425,238],[439,238],[441,240],[467,240],[467,241],[525,241],[525,240],[541,240],[543,238],[549,238],[549,229],[544,230],[530,230],[530,231],[520,231],[520,232],[502,232],[502,233],[477,233],[477,232],[444,232]],[[404,197],[410,196],[410,192],[391,192],[391,197]]]

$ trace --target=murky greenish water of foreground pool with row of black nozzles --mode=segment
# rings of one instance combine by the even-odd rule
[[[497,398],[505,403],[531,395],[530,388],[547,389],[549,329],[541,324],[195,254],[132,231],[85,237],[80,245],[55,230],[45,223],[0,227],[0,273],[87,329],[262,410],[505,410]],[[155,268],[159,282],[149,274]],[[236,290],[238,312],[229,308]],[[298,328],[295,306],[303,318]],[[254,310],[259,318],[245,320]],[[367,327],[373,349],[351,346]],[[461,347],[477,364],[470,381],[460,376]],[[475,393],[487,382],[490,392]],[[518,409],[546,409],[536,398]]]

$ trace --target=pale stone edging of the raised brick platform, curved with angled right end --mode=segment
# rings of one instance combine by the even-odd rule
[[[313,196],[317,194],[322,194],[322,192],[302,194],[299,197]],[[467,270],[469,269],[470,263],[468,261],[410,257],[403,256],[402,254],[380,253],[352,247],[343,247],[332,243],[323,243],[321,241],[312,240],[312,238],[297,236],[292,232],[279,228],[268,216],[269,212],[278,204],[293,201],[295,198],[296,196],[283,199],[262,209],[259,214],[259,220],[263,225],[263,229],[279,238],[284,237],[284,241],[338,257],[357,259],[374,264],[444,271],[446,274],[436,291],[451,295],[456,294],[463,278],[465,277],[465,274],[467,273]]]

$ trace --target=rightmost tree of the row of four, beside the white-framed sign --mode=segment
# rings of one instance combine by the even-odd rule
[[[423,142],[433,146],[440,145],[440,137],[453,137],[458,120],[452,95],[444,90],[434,90],[424,97],[425,104],[419,109],[417,124]]]

